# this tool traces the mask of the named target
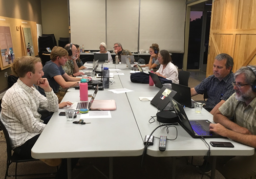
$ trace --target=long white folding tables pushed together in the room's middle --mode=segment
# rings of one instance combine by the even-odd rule
[[[90,64],[89,64],[90,65]],[[132,83],[130,81],[130,71],[126,64],[104,64],[109,68],[122,69],[117,71],[124,75],[116,75],[115,84],[110,85],[110,89],[127,88],[134,92],[126,94],[114,94],[107,89],[99,91],[97,99],[115,99],[117,109],[111,111],[112,118],[90,119],[86,122],[91,124],[77,125],[66,120],[65,116],[58,116],[60,111],[54,113],[45,130],[41,133],[36,144],[32,148],[32,156],[36,159],[47,158],[87,158],[109,156],[110,178],[113,177],[113,156],[137,156],[141,155],[144,149],[143,141],[146,135],[159,126],[159,122],[148,123],[151,116],[155,116],[157,108],[150,104],[150,101],[140,101],[139,97],[154,97],[159,88],[148,84]],[[127,69],[127,70],[123,70]],[[112,73],[113,71],[111,71]],[[93,91],[89,91],[89,94]],[[75,102],[79,100],[79,91],[69,89],[63,101]],[[189,119],[208,119],[212,122],[212,115],[206,110],[201,114],[196,114],[194,109],[185,107]],[[79,120],[79,115],[76,120]],[[172,156],[173,178],[175,178],[176,156],[207,155],[208,146],[201,139],[193,139],[181,127],[178,129],[178,138],[174,141],[167,141],[166,150],[159,151],[159,139],[155,138],[154,145],[147,148],[147,154],[156,157]],[[167,136],[168,139],[176,137],[176,130],[166,127],[157,129],[155,137]],[[209,141],[230,141],[228,139],[206,139]],[[252,155],[254,148],[232,141],[234,148],[210,147],[211,155]],[[216,158],[214,158],[214,161]],[[71,178],[71,168],[69,162],[68,176]],[[212,168],[211,177],[215,177],[215,165]]]

